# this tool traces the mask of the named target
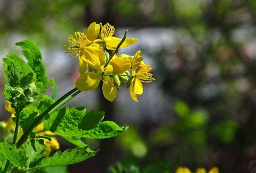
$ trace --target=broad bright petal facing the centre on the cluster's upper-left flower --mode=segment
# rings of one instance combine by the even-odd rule
[[[84,47],[80,58],[100,73],[104,71],[106,56],[100,45],[92,44],[91,46]]]

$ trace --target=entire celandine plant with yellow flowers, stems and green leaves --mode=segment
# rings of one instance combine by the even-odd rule
[[[4,62],[5,109],[11,113],[1,122],[0,172],[26,172],[78,163],[94,156],[81,138],[111,138],[126,131],[113,121],[102,121],[104,112],[87,112],[85,107],[62,107],[81,91],[96,89],[103,81],[104,97],[111,102],[117,97],[120,84],[130,88],[131,98],[138,102],[143,84],[154,80],[150,65],[143,62],[138,51],[133,56],[121,54],[119,48],[127,47],[137,39],[112,37],[110,24],[92,23],[86,33],[75,32],[65,45],[66,53],[78,57],[80,76],[76,87],[57,98],[57,85],[45,73],[42,54],[32,41],[17,42],[23,48],[21,57],[9,53]],[[52,96],[45,95],[48,84]],[[62,108],[61,108],[62,107]],[[58,135],[77,146],[64,152],[59,149]]]

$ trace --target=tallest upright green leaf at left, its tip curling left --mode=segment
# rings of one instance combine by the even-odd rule
[[[37,81],[43,83],[44,87],[42,88],[42,92],[45,92],[47,89],[46,85],[48,83],[48,78],[42,61],[42,54],[38,47],[34,42],[29,40],[17,42],[16,45],[24,49],[22,54],[28,60],[28,65],[32,68],[34,73],[36,73]]]

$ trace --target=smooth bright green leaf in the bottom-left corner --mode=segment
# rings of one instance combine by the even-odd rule
[[[28,160],[28,157],[22,154],[21,151],[19,151],[15,146],[5,142],[4,140],[0,142],[0,153],[16,166],[23,167],[26,165],[26,161]]]

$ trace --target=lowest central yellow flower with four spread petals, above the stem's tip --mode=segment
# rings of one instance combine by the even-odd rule
[[[112,102],[117,96],[117,89],[114,86],[114,74],[122,74],[130,69],[131,58],[127,56],[118,57],[116,54],[110,60],[108,66],[104,70],[106,59],[99,57],[98,59],[88,59],[87,62],[90,66],[98,71],[98,73],[87,72],[81,74],[77,81],[76,86],[81,91],[90,91],[96,89],[100,80],[103,78],[102,91],[104,97]]]

